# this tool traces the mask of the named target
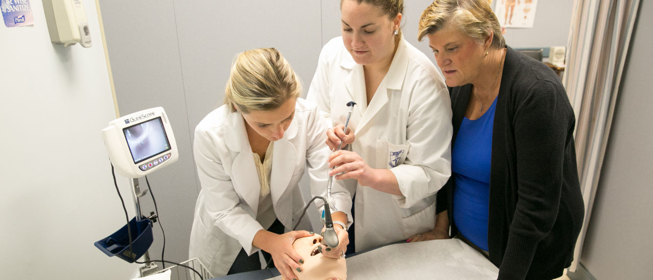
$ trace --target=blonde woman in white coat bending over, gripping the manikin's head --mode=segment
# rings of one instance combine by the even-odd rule
[[[195,129],[202,189],[189,257],[199,258],[215,277],[261,269],[259,249],[271,254],[286,279],[301,272],[303,260],[292,244],[312,234],[283,232],[293,229],[305,206],[298,188],[304,167],[311,193],[324,195],[330,155],[324,142],[329,124],[315,105],[298,98],[301,91],[298,77],[276,49],[245,51],[232,66],[225,105]],[[333,213],[334,221],[347,225],[351,196],[338,184],[332,196],[343,209]],[[333,251],[340,252],[346,249],[347,232],[336,232],[341,244]]]

